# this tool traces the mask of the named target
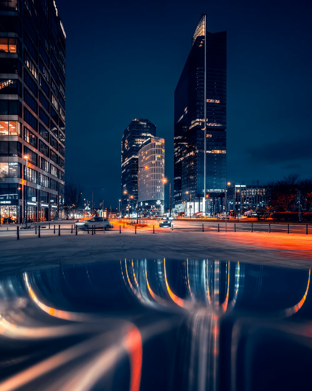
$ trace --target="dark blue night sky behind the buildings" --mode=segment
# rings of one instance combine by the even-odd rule
[[[56,4],[67,45],[66,179],[89,200],[103,186],[95,206],[118,206],[121,137],[134,118],[165,138],[173,181],[174,90],[202,13],[208,31],[227,30],[227,181],[312,178],[310,1]]]

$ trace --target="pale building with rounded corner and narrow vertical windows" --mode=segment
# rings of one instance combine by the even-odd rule
[[[165,202],[165,140],[151,137],[138,152],[138,210],[142,217],[161,215]]]

